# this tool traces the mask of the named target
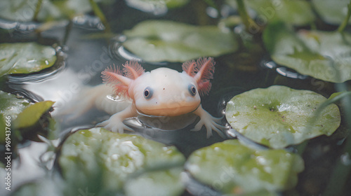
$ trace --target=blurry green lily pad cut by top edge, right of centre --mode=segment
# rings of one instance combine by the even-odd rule
[[[258,23],[283,21],[293,25],[308,25],[314,21],[314,13],[307,1],[250,0],[245,3],[258,13]]]

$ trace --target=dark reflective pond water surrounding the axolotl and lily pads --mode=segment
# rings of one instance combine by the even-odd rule
[[[57,62],[52,68],[39,73],[13,74],[3,77],[1,80],[1,90],[23,95],[33,102],[44,100],[55,102],[53,112],[51,112],[51,116],[56,122],[55,130],[49,132],[49,139],[56,146],[60,146],[61,142],[67,139],[72,132],[94,127],[97,123],[110,117],[107,113],[97,109],[90,109],[74,119],[69,119],[71,113],[67,116],[59,114],[65,106],[73,106],[80,102],[74,98],[79,97],[81,90],[84,90],[86,86],[100,85],[102,83],[101,71],[105,70],[107,66],[111,64],[120,66],[127,60],[137,57],[121,46],[121,42],[126,38],[122,35],[122,31],[131,29],[144,20],[173,20],[194,25],[216,25],[218,22],[217,18],[208,17],[208,15],[213,15],[214,10],[207,8],[207,13],[199,13],[203,8],[206,10],[207,7],[206,3],[202,1],[168,10],[166,13],[162,9],[154,13],[143,12],[131,8],[125,1],[118,1],[112,5],[102,6],[114,33],[114,36],[109,38],[103,37],[102,30],[99,29],[99,20],[91,15],[76,20],[68,29],[66,29],[67,22],[63,22],[63,25],[41,32],[40,36],[33,30],[0,31],[0,43],[37,41],[44,45],[53,45],[58,54]],[[223,12],[227,9],[227,7],[223,8]],[[230,12],[235,13],[234,10],[230,10]],[[232,97],[258,87],[284,85],[298,90],[312,90],[324,97],[329,97],[333,92],[338,91],[336,89],[338,86],[334,83],[304,76],[293,69],[275,64],[265,50],[260,34],[250,36],[244,41],[240,39],[243,37],[243,28],[239,25],[230,29],[237,33],[238,40],[240,40],[237,52],[215,57],[216,70],[213,80],[211,80],[211,91],[208,95],[201,97],[202,106],[211,115],[223,116],[225,106]],[[330,28],[334,29],[335,27],[331,26]],[[65,40],[65,34],[68,35],[67,40]],[[140,64],[145,68],[145,71],[151,71],[161,66],[181,71],[180,62],[141,61]],[[350,90],[350,83],[344,84],[348,85]],[[347,135],[345,114],[342,108],[340,110],[342,111],[342,120],[338,130],[331,137],[321,136],[308,141],[302,154],[305,170],[298,175],[296,188],[283,192],[282,195],[319,195],[323,192],[329,183],[336,160],[343,153],[343,141]],[[129,120],[127,124],[134,127],[135,134],[166,145],[176,146],[185,155],[185,158],[199,148],[236,137],[225,118],[222,120],[223,125],[227,125],[225,138],[213,132],[213,137],[207,139],[205,129],[199,132],[190,132],[189,130],[195,125],[194,118],[196,116],[180,116],[164,120],[167,123],[164,123],[163,130],[153,129],[152,125],[149,125],[150,128],[143,127],[140,121],[147,125],[145,123],[147,117],[145,116],[140,116],[138,120]],[[171,127],[169,128],[171,130],[168,130],[167,126]],[[180,128],[174,130],[174,127],[177,126]],[[238,133],[236,132],[236,134]],[[238,135],[238,137],[242,136]],[[256,144],[245,137],[243,141]],[[48,144],[37,141],[26,141],[24,144],[18,144],[18,157],[13,159],[12,165],[13,190],[11,190],[11,194],[22,185],[34,183],[53,171],[60,171],[57,161],[55,162],[60,151],[46,152],[47,148]],[[287,150],[301,153],[300,148],[303,147],[292,146]],[[350,180],[349,175],[346,183],[350,183]],[[190,184],[192,186],[184,190],[183,195],[201,195],[199,190],[202,189],[207,189],[208,195],[220,195],[219,192],[194,181],[194,179]],[[350,191],[350,188],[348,190],[345,188],[343,193],[346,195]],[[8,192],[1,187],[0,194],[8,195]]]

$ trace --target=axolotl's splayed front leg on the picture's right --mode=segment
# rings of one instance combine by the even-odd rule
[[[220,125],[222,118],[215,118],[211,116],[211,114],[204,110],[201,105],[193,113],[199,116],[200,120],[191,131],[197,132],[201,130],[203,126],[205,126],[207,138],[212,136],[212,130],[217,132],[221,137],[225,137],[221,131],[224,127],[223,125]]]

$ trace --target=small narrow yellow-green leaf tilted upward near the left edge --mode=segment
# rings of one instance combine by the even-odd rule
[[[31,127],[38,122],[41,116],[46,113],[55,102],[37,102],[25,108],[13,122],[15,128]]]

